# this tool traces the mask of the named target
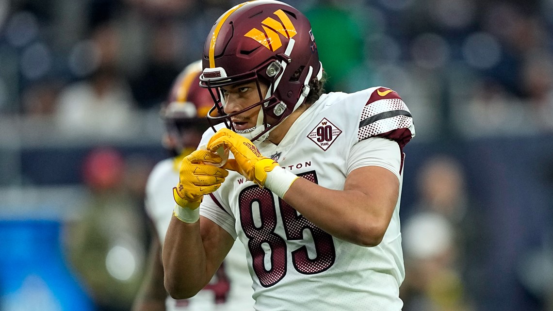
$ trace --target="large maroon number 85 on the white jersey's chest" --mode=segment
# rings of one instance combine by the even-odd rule
[[[300,177],[317,183],[315,171],[303,173]],[[283,279],[288,266],[286,241],[275,233],[277,208],[282,216],[286,240],[303,240],[305,238],[304,230],[307,229],[311,232],[316,256],[310,258],[305,245],[292,251],[291,258],[296,271],[302,274],[316,274],[326,271],[333,265],[336,251],[332,236],[319,229],[304,216],[299,215],[284,200],[278,198],[277,206],[270,190],[252,185],[243,189],[238,199],[242,229],[249,239],[247,247],[252,254],[253,270],[263,287],[273,286]],[[255,207],[259,211],[258,217],[254,216]],[[257,224],[254,223],[254,220]],[[265,259],[266,255],[269,256],[267,260]],[[265,262],[270,264],[266,265]],[[270,266],[270,268],[266,268],[266,266]]]

